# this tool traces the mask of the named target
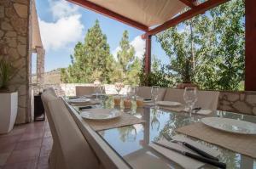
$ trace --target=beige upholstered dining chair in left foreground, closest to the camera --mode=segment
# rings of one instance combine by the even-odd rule
[[[62,166],[59,168],[99,168],[100,162],[63,100],[52,100],[48,102],[48,105],[55,123],[57,141],[61,147]]]

